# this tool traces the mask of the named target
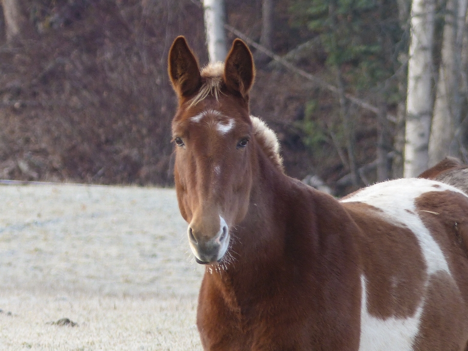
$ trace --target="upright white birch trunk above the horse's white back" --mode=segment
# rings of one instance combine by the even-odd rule
[[[434,0],[412,1],[403,171],[407,178],[418,176],[428,168],[434,12]]]

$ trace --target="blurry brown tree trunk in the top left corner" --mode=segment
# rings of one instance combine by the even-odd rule
[[[32,25],[29,23],[23,2],[21,0],[1,0],[5,20],[5,37],[8,42],[32,34]]]

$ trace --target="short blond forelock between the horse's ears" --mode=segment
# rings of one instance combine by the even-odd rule
[[[189,107],[195,106],[209,96],[214,96],[216,100],[221,94],[221,82],[223,80],[224,63],[215,62],[206,65],[200,72],[202,85],[195,97],[189,101]]]

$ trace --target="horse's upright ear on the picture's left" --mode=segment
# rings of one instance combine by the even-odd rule
[[[179,98],[192,96],[201,85],[200,67],[183,36],[169,50],[168,73]]]

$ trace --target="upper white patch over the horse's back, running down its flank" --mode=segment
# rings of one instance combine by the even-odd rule
[[[439,187],[433,187],[434,184],[439,185]],[[392,224],[403,225],[416,236],[428,266],[428,276],[437,271],[445,271],[450,274],[442,250],[419,218],[414,203],[416,198],[424,193],[446,190],[464,194],[447,184],[428,179],[407,178],[377,183],[342,200],[342,202],[364,202],[382,210],[385,215],[390,217]]]

